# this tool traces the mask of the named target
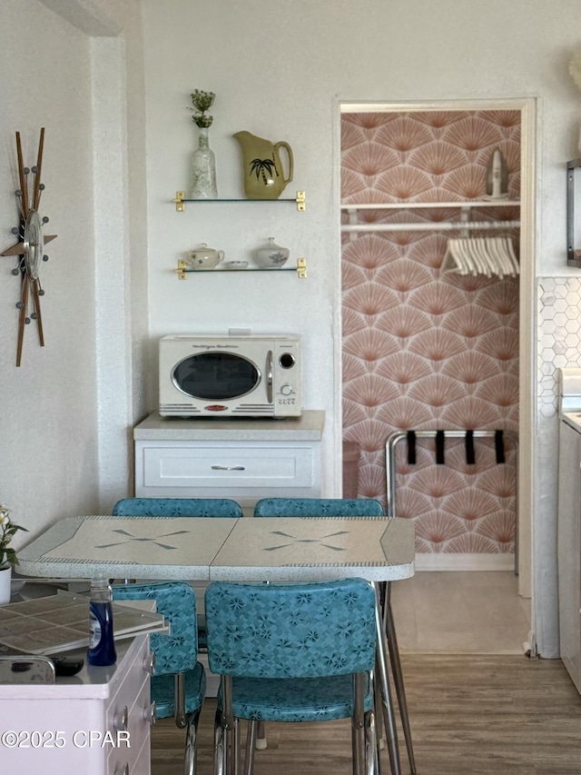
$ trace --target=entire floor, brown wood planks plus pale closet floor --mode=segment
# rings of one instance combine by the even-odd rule
[[[581,697],[561,661],[525,655],[530,601],[514,573],[422,571],[392,585],[392,603],[418,775],[581,775]],[[214,710],[206,700],[200,775],[212,775]],[[183,740],[158,722],[153,775],[182,775]],[[267,740],[255,775],[350,775],[348,720],[268,724]]]

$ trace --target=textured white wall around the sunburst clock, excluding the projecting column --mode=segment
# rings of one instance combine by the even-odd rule
[[[24,40],[25,38],[25,40]],[[84,35],[37,2],[0,7],[0,224],[3,250],[17,223],[15,130],[25,164],[35,164],[45,127],[41,214],[44,348],[35,323],[25,328],[15,367],[20,282],[15,258],[0,259],[0,499],[31,532],[62,514],[94,509],[97,433],[94,363],[94,234],[90,55]]]

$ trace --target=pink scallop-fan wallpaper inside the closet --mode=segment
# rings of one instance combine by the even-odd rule
[[[487,163],[502,151],[519,198],[518,111],[343,114],[343,204],[484,198]],[[359,210],[359,223],[458,220],[457,208]],[[470,220],[517,220],[516,206],[474,208]],[[349,223],[349,215],[342,214]],[[352,233],[351,233],[352,234]],[[518,430],[518,281],[440,273],[457,231],[342,238],[343,434],[359,442],[359,496],[385,502],[385,442],[395,431]],[[470,232],[510,235],[518,231]],[[414,466],[397,447],[397,513],[416,522],[420,552],[514,551],[515,462],[494,442],[418,442]]]

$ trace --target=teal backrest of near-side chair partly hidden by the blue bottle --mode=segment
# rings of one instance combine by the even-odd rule
[[[192,670],[198,661],[196,597],[185,581],[150,584],[115,584],[113,600],[154,600],[156,610],[170,623],[170,634],[153,633],[155,675]]]

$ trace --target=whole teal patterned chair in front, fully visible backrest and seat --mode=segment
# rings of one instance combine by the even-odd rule
[[[208,662],[220,675],[214,772],[240,771],[239,720],[351,719],[353,772],[378,768],[373,681],[375,591],[363,579],[300,584],[213,582],[205,596]]]

